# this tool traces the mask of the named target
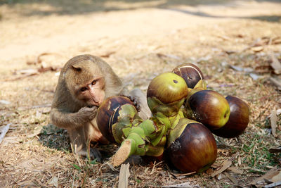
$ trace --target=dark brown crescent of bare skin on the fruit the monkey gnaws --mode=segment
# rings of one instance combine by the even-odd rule
[[[119,108],[124,104],[133,105],[133,102],[125,96],[110,96],[98,108],[98,129],[108,141],[113,143],[115,138],[112,135],[112,125],[117,122]]]

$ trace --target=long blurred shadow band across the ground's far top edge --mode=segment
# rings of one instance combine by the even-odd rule
[[[265,0],[256,0],[258,2]],[[270,0],[281,3],[281,0]],[[174,6],[199,6],[199,5],[218,5],[232,4],[235,6],[235,1],[230,0],[50,0],[50,1],[34,1],[34,0],[0,0],[1,5],[11,6],[18,9],[17,13],[22,16],[30,15],[77,15],[91,12],[106,12],[106,11],[126,11],[137,8],[164,8],[171,11],[180,11],[191,15],[211,17],[211,18],[247,18],[254,20],[263,20],[268,22],[280,22],[281,15],[261,15],[256,17],[227,17],[210,15],[204,12],[192,12],[173,8]],[[2,16],[3,17],[3,16]]]

